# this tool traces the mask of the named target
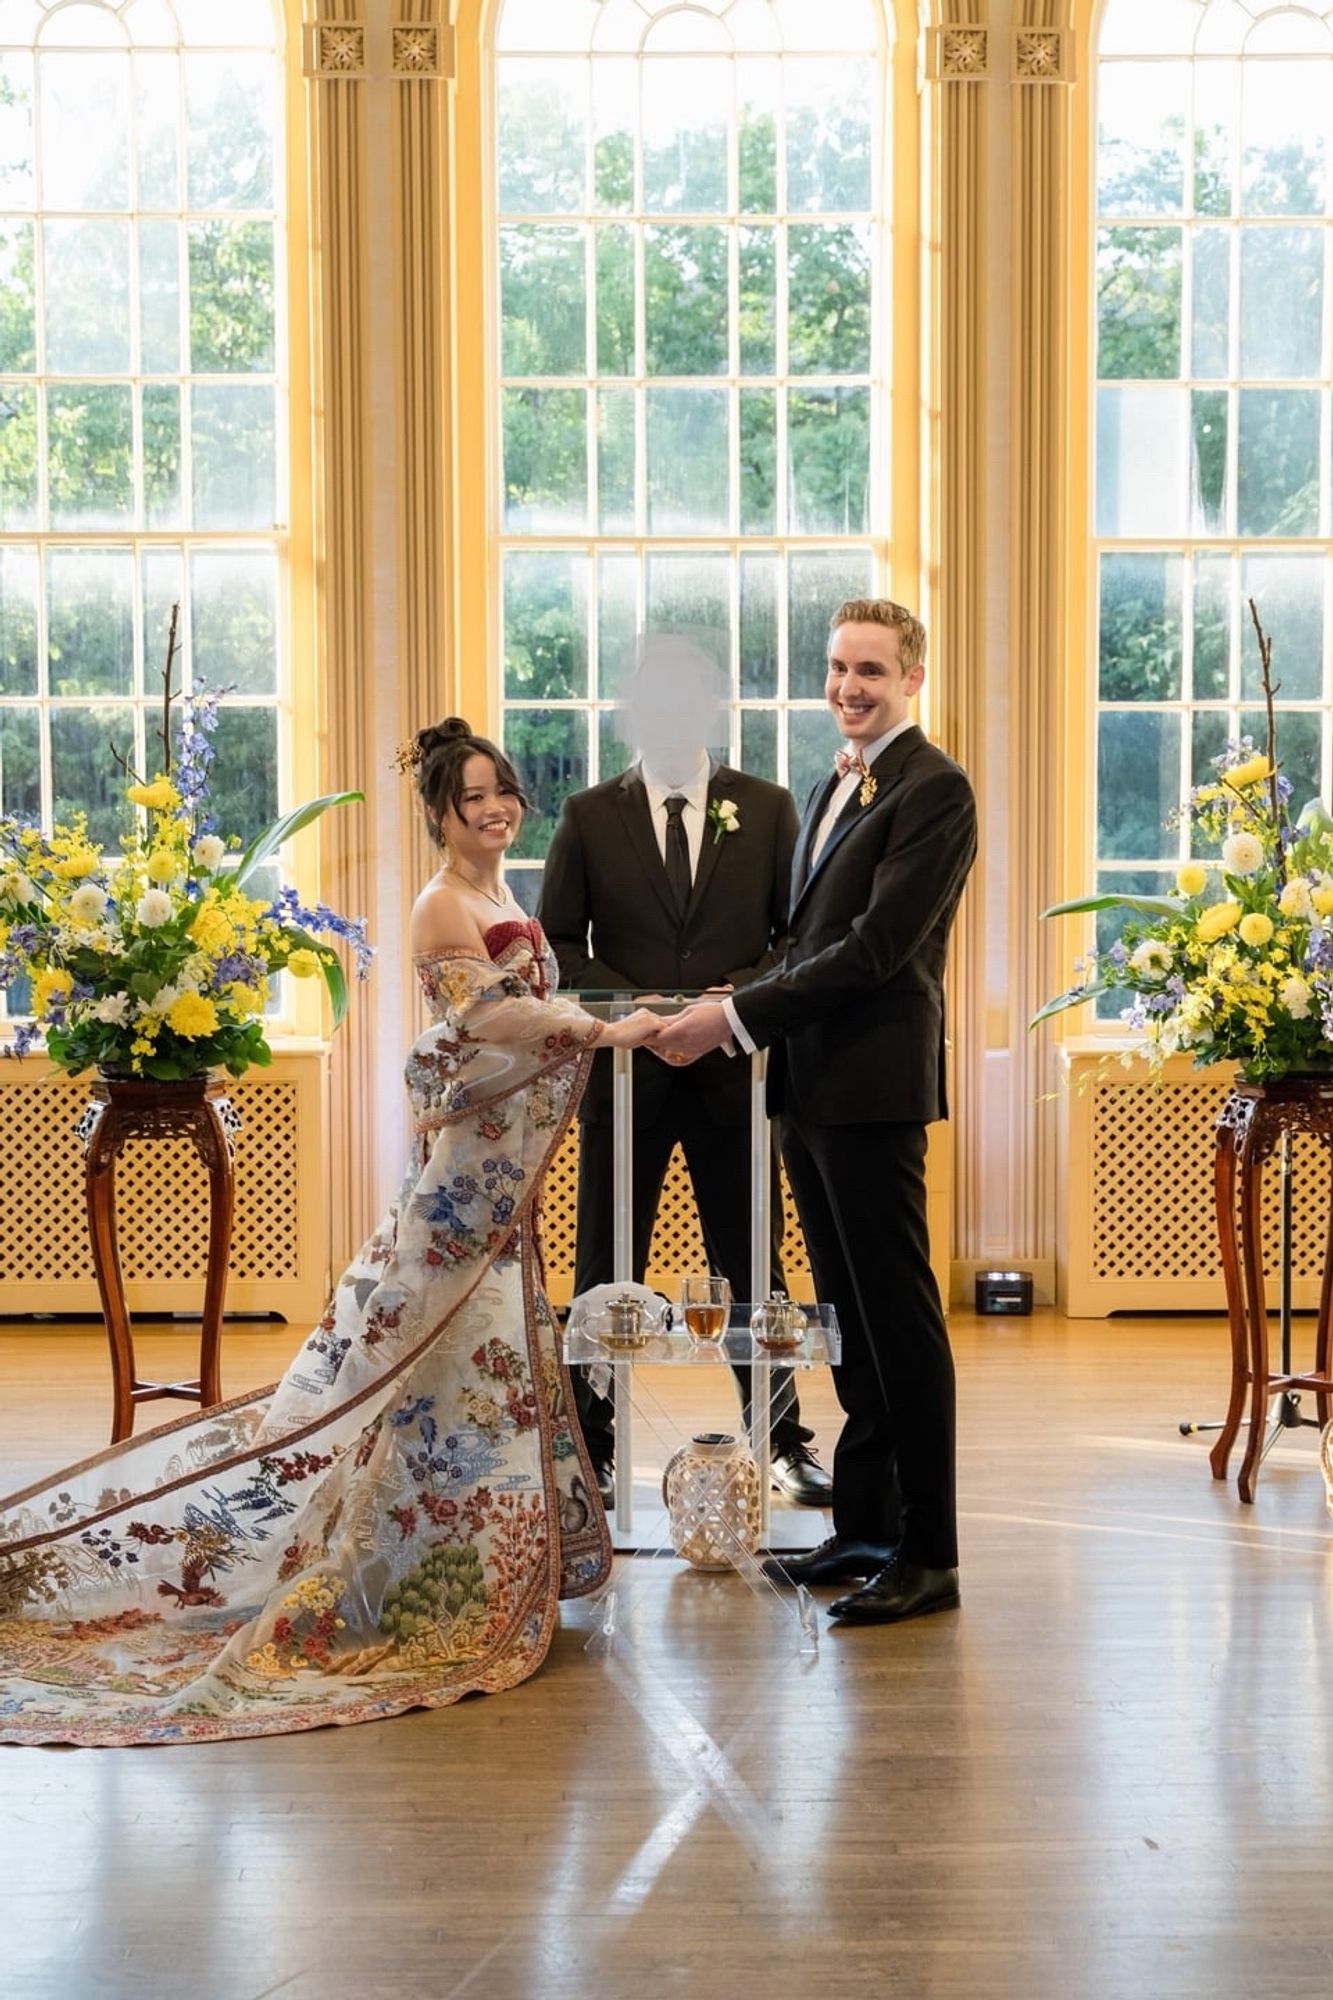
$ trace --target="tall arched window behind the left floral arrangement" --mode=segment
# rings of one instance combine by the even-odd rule
[[[284,790],[280,106],[272,0],[0,6],[0,810],[98,842],[172,602],[220,826]]]

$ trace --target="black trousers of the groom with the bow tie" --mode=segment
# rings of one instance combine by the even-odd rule
[[[835,1532],[953,1568],[955,1382],[931,1270],[925,1126],[783,1118],[781,1140],[815,1288],[843,1330]]]

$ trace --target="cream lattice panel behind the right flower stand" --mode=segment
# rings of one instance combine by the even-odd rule
[[[1093,1278],[1221,1286],[1213,1150],[1225,1094],[1225,1086],[1207,1084],[1095,1088]],[[1263,1178],[1265,1268],[1277,1272],[1277,1154]],[[1329,1228],[1329,1152],[1305,1132],[1291,1148],[1291,1276],[1317,1284]]]

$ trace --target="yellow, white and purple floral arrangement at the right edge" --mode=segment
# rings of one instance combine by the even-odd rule
[[[1075,970],[1047,1020],[1097,994],[1129,990],[1121,1020],[1143,1032],[1153,1070],[1181,1050],[1239,1062],[1249,1082],[1333,1066],[1333,818],[1311,800],[1289,816],[1277,762],[1273,650],[1251,600],[1267,706],[1267,746],[1249,738],[1215,758],[1215,778],[1181,808],[1217,860],[1187,860],[1173,896],[1083,896],[1043,912],[1131,912],[1121,938]]]

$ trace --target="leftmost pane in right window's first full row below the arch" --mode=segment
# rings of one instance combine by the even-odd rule
[[[1097,82],[1103,216],[1179,214],[1189,82],[1189,68],[1177,62],[1103,62]]]

